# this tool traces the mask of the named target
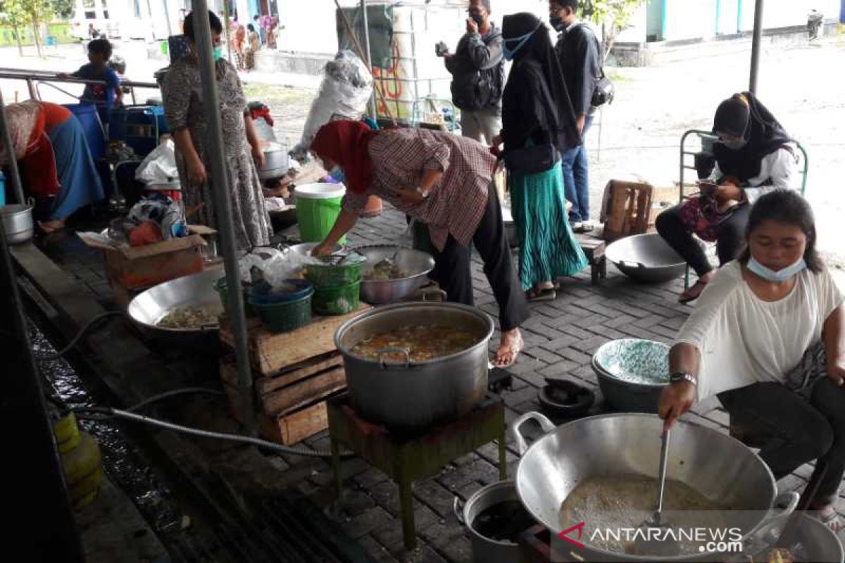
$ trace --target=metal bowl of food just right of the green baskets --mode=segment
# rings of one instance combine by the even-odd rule
[[[434,258],[404,246],[358,246],[367,258],[361,280],[361,298],[373,305],[395,303],[414,295],[428,281]]]

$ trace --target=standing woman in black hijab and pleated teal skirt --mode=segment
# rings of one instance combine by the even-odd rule
[[[581,136],[546,26],[533,14],[506,15],[502,36],[513,66],[493,150],[504,142],[522,290],[528,300],[554,300],[555,280],[587,264],[570,229],[560,170],[560,152]]]

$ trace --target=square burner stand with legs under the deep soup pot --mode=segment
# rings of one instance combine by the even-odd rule
[[[337,497],[340,498],[343,486],[340,456],[343,446],[399,485],[402,533],[408,551],[417,546],[412,495],[414,481],[439,474],[446,463],[493,440],[499,441],[499,478],[504,480],[508,477],[504,404],[497,395],[488,393],[481,403],[460,419],[438,425],[412,438],[393,436],[383,426],[361,419],[352,409],[348,393],[327,403]]]

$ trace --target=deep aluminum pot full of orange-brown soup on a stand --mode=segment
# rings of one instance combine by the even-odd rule
[[[493,320],[455,303],[371,309],[335,333],[357,414],[416,432],[466,414],[487,392]]]

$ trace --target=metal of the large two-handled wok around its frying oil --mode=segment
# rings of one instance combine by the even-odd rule
[[[536,420],[546,432],[531,447],[521,434],[526,420]],[[668,557],[612,553],[591,547],[589,539],[596,530],[590,528],[590,522],[582,528],[585,548],[556,538],[563,531],[560,506],[585,479],[616,474],[657,479],[662,424],[654,414],[627,413],[593,416],[557,428],[537,413],[524,414],[514,421],[511,431],[522,456],[516,470],[516,490],[528,512],[553,532],[556,549],[588,561],[724,560],[723,553]],[[731,506],[733,510],[723,516],[728,527],[742,531],[743,539],[774,517],[792,512],[798,504],[794,492],[777,495],[775,479],[766,463],[730,436],[679,420],[673,426],[671,440],[667,479],[678,480],[711,501]],[[773,509],[776,501],[778,506],[787,507]]]

